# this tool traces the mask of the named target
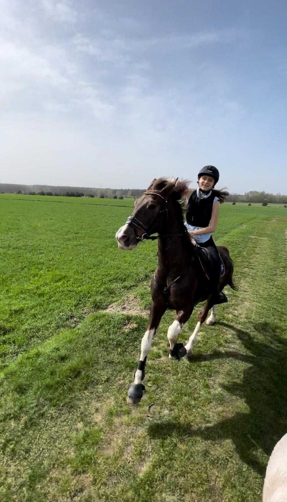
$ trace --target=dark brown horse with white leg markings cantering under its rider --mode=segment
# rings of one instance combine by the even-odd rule
[[[158,239],[158,266],[151,281],[152,303],[147,331],[141,340],[140,356],[134,372],[134,382],[127,393],[127,402],[139,403],[145,386],[147,356],[153,337],[166,310],[176,310],[176,320],[168,328],[169,357],[190,359],[201,324],[215,322],[216,309],[212,301],[208,281],[201,268],[199,246],[190,238],[184,224],[183,197],[188,190],[188,181],[155,178],[147,191],[141,195],[131,216],[116,234],[120,249],[134,249],[144,239]],[[158,235],[152,235],[157,233]],[[233,262],[227,247],[217,246],[224,264],[219,291],[228,284],[234,288]],[[177,343],[183,325],[190,318],[194,306],[205,301],[198,322],[187,344]],[[207,318],[209,310],[210,316]]]

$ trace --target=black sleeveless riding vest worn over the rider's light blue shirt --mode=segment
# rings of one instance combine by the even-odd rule
[[[188,199],[186,221],[190,225],[205,228],[210,223],[213,201],[216,195],[211,192],[209,197],[199,199],[196,192],[194,190]]]

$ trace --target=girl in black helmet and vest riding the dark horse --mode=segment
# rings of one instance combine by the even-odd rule
[[[197,190],[190,189],[186,193],[186,227],[197,244],[206,247],[215,258],[216,267],[213,266],[211,278],[214,304],[228,301],[225,294],[218,290],[221,264],[217,247],[211,236],[217,227],[219,204],[222,204],[229,195],[226,191],[214,189],[218,180],[218,169],[214,166],[205,166],[198,173]]]

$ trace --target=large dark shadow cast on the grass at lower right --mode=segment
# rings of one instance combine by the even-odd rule
[[[249,413],[236,413],[233,417],[203,429],[191,424],[172,421],[151,423],[149,434],[153,438],[200,436],[206,440],[231,439],[241,460],[260,475],[265,465],[253,453],[261,449],[270,455],[275,443],[287,430],[287,400],[285,398],[287,341],[282,339],[275,325],[253,325],[256,339],[250,333],[227,323],[219,325],[232,330],[249,354],[236,351],[213,352],[194,356],[191,363],[219,358],[235,358],[250,364],[243,373],[242,382],[231,382],[223,389],[241,399]]]

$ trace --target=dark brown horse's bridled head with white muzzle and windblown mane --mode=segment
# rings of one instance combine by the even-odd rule
[[[117,230],[115,237],[118,247],[133,249],[140,240],[149,238],[151,234],[166,232],[168,224],[171,225],[174,203],[183,197],[187,188],[188,182],[185,180],[155,178],[136,202],[126,223]],[[181,207],[180,216],[182,222]]]

